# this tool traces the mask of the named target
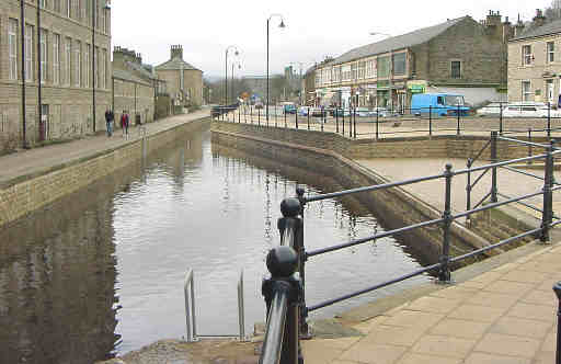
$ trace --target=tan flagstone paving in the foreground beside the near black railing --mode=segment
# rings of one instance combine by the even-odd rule
[[[306,364],[552,364],[561,247],[550,246],[354,328],[304,341]]]

